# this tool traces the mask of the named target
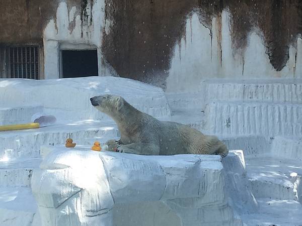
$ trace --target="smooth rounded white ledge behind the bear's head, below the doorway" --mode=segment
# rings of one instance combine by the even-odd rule
[[[155,117],[171,114],[161,88],[117,77],[71,79],[0,79],[0,107],[41,105],[45,114],[61,121],[107,119],[95,109],[90,98],[95,95],[123,96],[134,107]]]

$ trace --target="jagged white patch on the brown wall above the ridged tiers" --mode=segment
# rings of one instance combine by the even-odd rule
[[[210,30],[200,23],[197,13],[193,13],[186,24],[185,37],[180,44],[176,44],[171,60],[167,79],[169,93],[175,90],[193,93],[202,91],[200,83],[208,78],[301,78],[301,38],[290,46],[285,67],[276,71],[269,62],[262,34],[256,28],[248,35],[246,49],[234,51],[227,10],[212,19],[212,38]]]

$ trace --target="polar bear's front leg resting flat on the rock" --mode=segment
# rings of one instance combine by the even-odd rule
[[[159,155],[160,147],[149,143],[132,143],[128,145],[119,145],[117,152],[137,154],[137,155]]]

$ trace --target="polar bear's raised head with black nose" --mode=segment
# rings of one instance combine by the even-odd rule
[[[125,100],[121,96],[105,94],[90,98],[91,104],[98,110],[109,116],[117,114],[124,105]]]

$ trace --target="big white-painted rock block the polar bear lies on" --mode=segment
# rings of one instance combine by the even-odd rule
[[[43,226],[242,225],[221,158],[55,148],[32,176]]]

